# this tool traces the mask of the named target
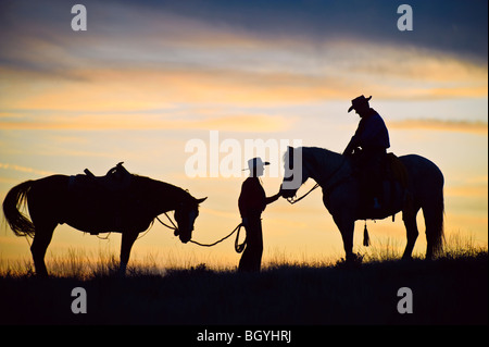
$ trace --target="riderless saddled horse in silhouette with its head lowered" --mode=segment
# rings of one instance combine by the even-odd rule
[[[30,251],[37,275],[48,275],[46,250],[54,228],[63,223],[92,235],[122,233],[120,270],[124,274],[134,241],[158,215],[175,211],[175,236],[186,244],[191,239],[199,203],[205,199],[130,174],[120,163],[102,177],[87,172],[24,182],[7,194],[3,213],[15,235],[34,237]],[[28,207],[30,220],[20,211],[23,203]]]

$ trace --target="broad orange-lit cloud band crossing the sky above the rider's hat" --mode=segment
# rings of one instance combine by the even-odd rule
[[[231,45],[230,36],[239,45]],[[359,90],[384,99],[485,98],[488,92],[487,66],[428,50],[353,40],[328,41],[314,50],[308,41],[269,42],[238,34],[215,34],[217,47],[208,48],[193,46],[193,40],[145,42],[141,49],[155,45],[162,57],[170,45],[181,59],[172,62],[153,57],[153,50],[150,57],[122,50],[116,52],[135,61],[128,64],[118,55],[101,53],[87,62],[58,57],[49,53],[50,46],[37,45],[36,51],[48,51],[41,58],[58,57],[67,67],[51,72],[3,67],[1,85],[9,88],[0,104],[3,110],[129,111],[178,103],[248,107],[350,100]]]

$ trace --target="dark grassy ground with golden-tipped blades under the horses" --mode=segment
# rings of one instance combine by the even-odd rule
[[[49,280],[27,261],[2,264],[0,324],[488,323],[487,249],[454,236],[434,261],[400,261],[398,248],[377,244],[358,267],[277,253],[261,273],[244,274],[205,263],[161,269],[148,256],[125,277],[115,256],[71,250],[50,258]],[[71,311],[74,287],[87,292],[87,314]],[[412,314],[397,311],[400,287],[413,292]]]

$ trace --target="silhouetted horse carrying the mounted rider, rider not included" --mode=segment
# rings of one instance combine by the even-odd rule
[[[296,158],[296,159],[294,159]],[[301,164],[294,160],[300,159]],[[443,243],[443,175],[436,164],[416,154],[399,157],[408,173],[406,187],[392,186],[380,210],[363,206],[354,163],[350,157],[316,147],[289,147],[284,156],[285,175],[281,196],[293,199],[299,187],[314,179],[323,188],[323,202],[331,213],[343,240],[346,259],[355,260],[353,231],[356,220],[385,219],[402,211],[408,234],[403,259],[410,259],[418,236],[416,215],[423,209],[426,225],[426,259],[440,252]],[[296,177],[299,175],[300,177]],[[409,197],[409,199],[406,199]]]

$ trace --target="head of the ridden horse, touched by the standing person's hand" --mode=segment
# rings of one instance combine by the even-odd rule
[[[309,172],[302,161],[302,148],[293,148],[290,146],[287,148],[284,154],[284,169],[280,195],[286,199],[291,199],[309,178]]]

